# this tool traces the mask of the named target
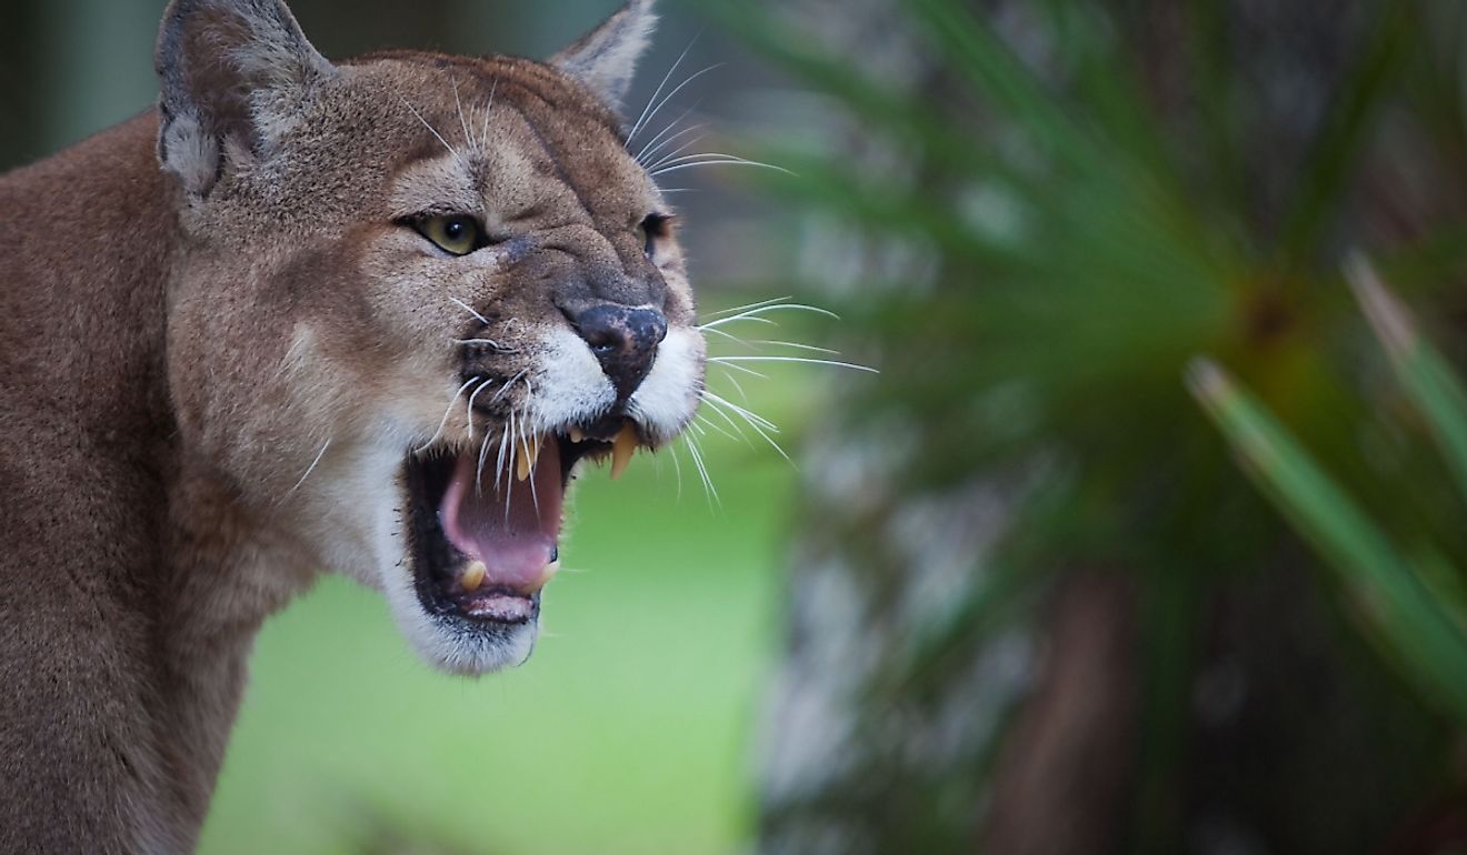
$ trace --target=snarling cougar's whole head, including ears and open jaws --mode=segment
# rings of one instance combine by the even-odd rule
[[[613,113],[647,4],[552,63],[340,66],[283,6],[180,6],[160,154],[185,443],[273,540],[381,588],[430,661],[524,660],[577,468],[619,474],[700,399],[675,214]]]

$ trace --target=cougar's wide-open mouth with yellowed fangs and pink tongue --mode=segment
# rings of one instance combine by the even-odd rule
[[[409,455],[405,531],[424,610],[483,628],[533,622],[540,590],[560,566],[577,463],[610,459],[618,477],[640,444],[635,422],[607,417],[471,450]]]

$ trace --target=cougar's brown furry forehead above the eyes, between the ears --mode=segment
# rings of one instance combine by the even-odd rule
[[[200,227],[279,238],[406,205],[610,230],[654,198],[616,116],[550,66],[400,51],[340,70],[304,103],[260,106],[276,142],[222,176]]]

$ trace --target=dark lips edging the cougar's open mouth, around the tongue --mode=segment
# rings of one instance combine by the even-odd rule
[[[560,485],[569,488],[575,465],[584,459],[607,458],[612,453],[612,440],[628,422],[623,415],[606,415],[588,424],[575,425],[584,434],[584,440],[572,443],[565,431],[556,434],[560,444]],[[468,613],[468,603],[462,594],[455,591],[453,582],[456,570],[468,560],[464,553],[455,548],[443,532],[439,519],[439,507],[447,490],[458,453],[449,449],[430,449],[424,453],[406,455],[402,465],[402,488],[406,515],[403,531],[408,538],[408,556],[414,581],[414,591],[422,610],[440,622],[455,623],[475,631],[496,631],[533,623],[540,616],[540,592],[522,595],[508,588],[484,588],[475,600],[487,597],[506,597],[519,600],[516,609],[508,610],[512,614],[499,616],[484,613]]]

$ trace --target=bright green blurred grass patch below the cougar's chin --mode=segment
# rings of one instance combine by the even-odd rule
[[[797,389],[754,403],[788,418]],[[797,475],[769,446],[704,446],[714,507],[685,453],[681,497],[666,453],[584,472],[522,669],[433,672],[340,578],[271,619],[201,852],[377,851],[383,829],[445,852],[738,851]]]

